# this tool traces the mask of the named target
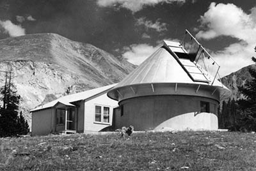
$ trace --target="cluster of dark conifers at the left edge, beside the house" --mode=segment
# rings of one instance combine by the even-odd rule
[[[4,85],[0,87],[0,137],[26,135],[29,125],[22,112],[19,113],[20,95],[12,82],[12,73],[5,73]]]

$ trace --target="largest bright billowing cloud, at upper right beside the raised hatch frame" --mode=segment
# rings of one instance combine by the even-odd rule
[[[237,38],[238,42],[212,54],[221,65],[221,75],[227,75],[243,66],[252,64],[256,45],[256,8],[251,13],[234,4],[211,3],[208,11],[200,17],[200,30],[196,38],[211,40],[218,36]],[[225,41],[225,40],[223,40]]]

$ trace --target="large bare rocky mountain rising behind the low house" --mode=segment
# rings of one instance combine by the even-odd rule
[[[65,94],[119,82],[135,68],[93,45],[53,33],[0,40],[0,56],[0,86],[4,71],[12,70],[20,110],[29,124],[31,108]]]

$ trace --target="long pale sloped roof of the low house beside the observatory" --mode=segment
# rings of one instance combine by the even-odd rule
[[[106,85],[104,87],[99,87],[96,89],[90,89],[88,91],[83,91],[81,93],[76,93],[76,94],[70,94],[68,96],[63,96],[61,98],[58,98],[57,100],[51,101],[49,103],[46,103],[45,105],[42,105],[40,107],[36,107],[29,112],[35,112],[36,110],[42,110],[45,108],[50,108],[54,107],[57,103],[62,103],[63,105],[67,106],[75,106],[72,104],[74,101],[79,101],[79,100],[86,100],[88,98],[92,98],[93,96],[100,94],[104,91],[108,91],[109,89],[113,88],[116,84],[111,84],[111,85]]]

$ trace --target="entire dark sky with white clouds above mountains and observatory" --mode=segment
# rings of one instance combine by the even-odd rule
[[[220,76],[252,64],[256,1],[0,0],[0,39],[57,33],[140,64],[188,29],[220,64]]]

